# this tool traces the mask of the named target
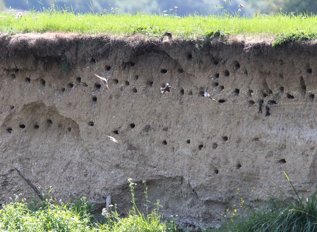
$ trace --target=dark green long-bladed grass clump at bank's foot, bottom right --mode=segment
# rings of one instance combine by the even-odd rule
[[[234,222],[224,223],[220,229],[205,230],[205,232],[314,232],[317,231],[317,191],[310,196],[299,195],[284,172],[297,199],[294,201],[276,186],[284,200],[274,198],[267,208],[252,209],[246,216]]]

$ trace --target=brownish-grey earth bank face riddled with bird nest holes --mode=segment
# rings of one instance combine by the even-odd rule
[[[109,194],[131,208],[133,178],[140,205],[146,180],[166,218],[198,229],[240,197],[278,194],[271,181],[292,195],[284,170],[299,192],[317,182],[314,43],[3,34],[0,49],[0,203],[35,196],[14,167],[57,198],[88,196],[97,213]],[[217,101],[202,96],[208,84]]]

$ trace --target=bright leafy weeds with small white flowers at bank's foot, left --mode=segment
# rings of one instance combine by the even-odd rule
[[[127,217],[121,217],[117,212],[116,205],[107,212],[103,210],[105,216],[103,223],[96,222],[91,214],[93,206],[85,197],[76,199],[73,203],[57,202],[46,199],[43,202],[27,202],[25,199],[19,201],[19,196],[15,195],[15,200],[0,209],[0,231],[6,232],[176,232],[173,220],[166,222],[159,209],[161,205],[156,202],[156,209],[148,211],[147,188],[146,194],[146,214],[139,211],[135,204],[134,187],[135,183],[130,181],[132,194],[132,209],[127,213]],[[146,183],[144,182],[146,187]],[[12,199],[11,199],[12,200]]]

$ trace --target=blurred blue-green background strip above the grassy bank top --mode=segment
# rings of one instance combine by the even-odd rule
[[[103,9],[111,11],[111,7],[115,9],[116,13],[143,11],[147,13],[163,14],[164,10],[178,7],[178,15],[189,14],[217,14],[228,9],[232,12],[237,11],[238,4],[242,3],[245,7],[241,14],[244,16],[251,16],[254,13],[261,12],[262,14],[272,14],[274,12],[291,13],[317,13],[317,3],[315,0],[0,0],[0,10],[42,10],[49,8],[51,4],[56,4],[61,8],[69,7],[76,12],[103,12]],[[111,4],[111,6],[109,6]],[[216,7],[217,4],[217,7]],[[224,6],[222,9],[221,6]],[[220,7],[220,8],[219,8]],[[118,9],[116,9],[118,8]],[[231,11],[229,13],[232,13]]]

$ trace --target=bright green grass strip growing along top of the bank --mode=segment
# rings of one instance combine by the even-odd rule
[[[79,32],[107,33],[113,35],[144,34],[158,36],[170,31],[173,37],[199,38],[207,30],[221,28],[235,35],[275,36],[276,34],[304,30],[316,32],[317,16],[291,16],[282,13],[274,16],[255,15],[254,17],[224,17],[215,15],[194,15],[178,17],[176,15],[149,15],[145,13],[74,14],[66,11],[22,12],[15,11],[0,14],[0,31],[9,33],[27,32]]]

